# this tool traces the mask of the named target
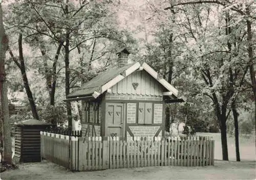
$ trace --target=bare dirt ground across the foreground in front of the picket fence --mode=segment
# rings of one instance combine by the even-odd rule
[[[0,174],[7,179],[255,179],[255,162],[216,161],[207,167],[147,167],[70,172],[49,162],[26,163]]]

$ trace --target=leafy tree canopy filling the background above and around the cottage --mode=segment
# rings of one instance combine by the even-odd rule
[[[114,66],[115,50],[127,46],[132,50],[132,59],[146,61],[178,88],[179,98],[186,99],[185,103],[168,105],[170,122],[166,128],[180,121],[201,132],[221,129],[227,151],[226,121],[232,115],[232,104],[240,111],[242,132],[250,132],[255,126],[249,116],[242,117],[247,111],[253,114],[252,93],[255,98],[255,91],[251,92],[255,77],[255,44],[251,43],[255,35],[255,3],[143,2],[140,6],[131,6],[132,1],[127,0],[10,3],[6,16],[9,44],[13,52],[17,51],[16,32],[24,34],[26,70],[31,75],[28,79],[40,116],[65,122],[62,100],[67,88],[72,91]],[[13,64],[9,58],[6,66],[11,94],[24,91],[22,77]],[[52,92],[49,87],[53,89],[54,81],[56,108],[48,105]]]

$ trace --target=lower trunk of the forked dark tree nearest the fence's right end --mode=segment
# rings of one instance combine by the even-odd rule
[[[221,120],[222,160],[228,161],[226,115],[221,117],[222,117],[222,120]]]

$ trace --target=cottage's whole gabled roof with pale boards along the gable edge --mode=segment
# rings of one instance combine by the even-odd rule
[[[170,85],[145,62],[142,65],[140,65],[139,62],[136,62],[123,66],[121,68],[116,67],[114,69],[106,70],[88,81],[86,84],[77,88],[74,92],[70,93],[67,98],[69,100],[77,100],[79,97],[90,96],[90,98],[96,99],[99,95],[107,91],[110,87],[112,87],[113,85],[115,85],[126,76],[132,74],[138,69],[145,70],[148,74],[150,74],[167,89],[167,92],[164,92],[163,96],[168,96],[175,99],[178,98],[178,90],[174,86]]]

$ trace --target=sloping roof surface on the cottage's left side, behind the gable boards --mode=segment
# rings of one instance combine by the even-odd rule
[[[102,85],[109,82],[134,64],[135,63],[128,64],[121,68],[115,67],[100,73],[98,76],[92,78],[90,81],[70,93],[68,98],[92,95],[95,91],[98,91]]]

